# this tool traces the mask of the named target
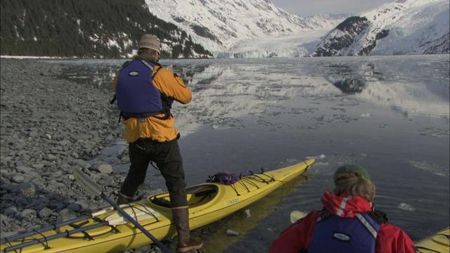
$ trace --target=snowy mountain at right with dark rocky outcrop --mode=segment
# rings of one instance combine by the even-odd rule
[[[450,53],[448,0],[397,0],[348,18],[311,56]]]

